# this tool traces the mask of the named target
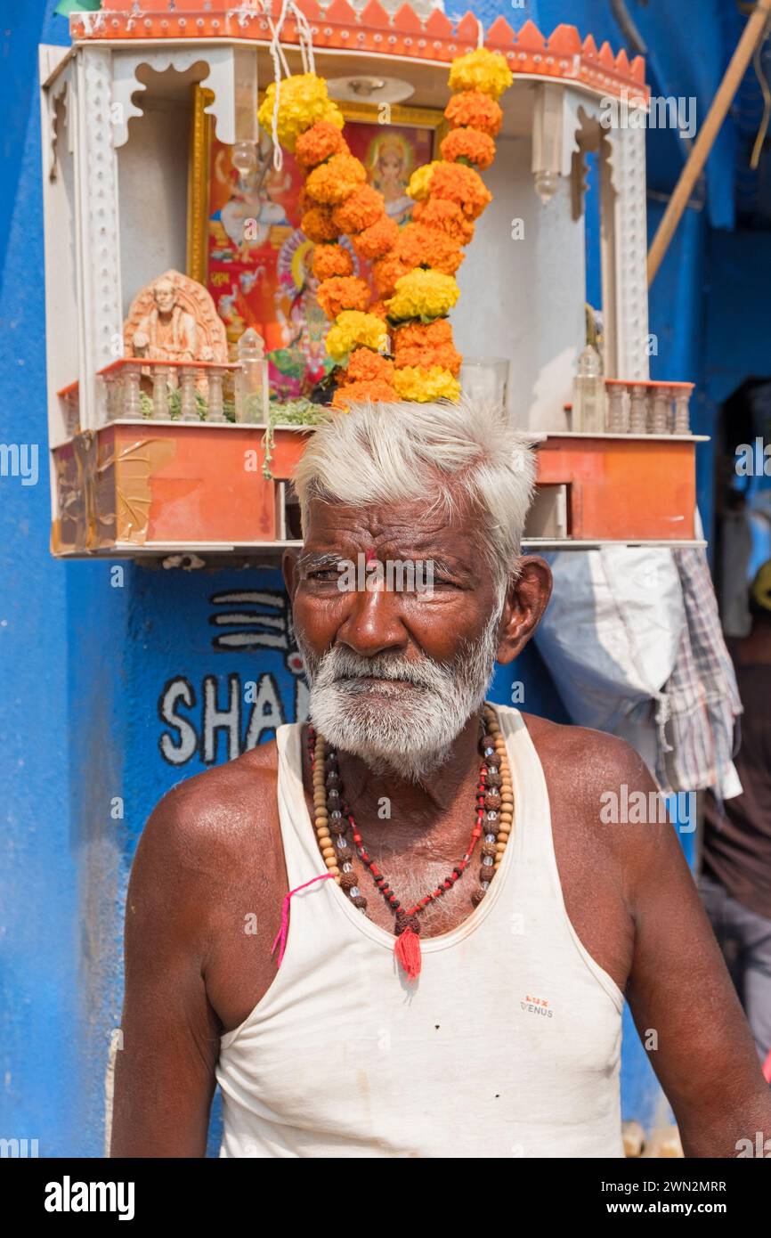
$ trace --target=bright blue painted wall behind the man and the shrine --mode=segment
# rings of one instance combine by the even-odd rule
[[[38,42],[67,42],[66,22],[52,17],[52,7],[15,6],[0,78],[6,118],[0,235],[7,243],[0,291],[0,439],[37,443],[41,469],[37,485],[0,479],[6,685],[0,699],[0,1136],[37,1138],[45,1156],[99,1156],[108,1047],[120,1019],[123,901],[144,822],[176,781],[240,750],[250,723],[259,738],[267,738],[276,721],[291,721],[298,681],[288,650],[265,645],[266,635],[285,631],[275,623],[286,619],[275,571],[121,565],[121,578],[106,562],[61,563],[48,555],[36,48]],[[502,11],[512,25],[530,10],[547,31],[559,20],[575,21],[620,46],[608,5],[599,0],[540,0],[523,10],[495,0],[476,9],[485,19]],[[645,10],[635,11],[645,16]],[[652,4],[648,14],[661,11],[661,4]],[[705,229],[704,218],[689,212],[655,288],[652,329],[662,340],[656,363],[662,369],[655,373],[668,378],[693,376],[700,366]],[[593,246],[595,238],[590,253]],[[714,332],[719,334],[718,319]],[[726,345],[721,389],[731,381],[731,364]],[[710,384],[714,397],[715,380]],[[228,597],[244,592],[250,595]],[[233,610],[246,612],[248,619],[214,621]],[[239,633],[251,646],[223,643]],[[510,698],[511,677],[525,682],[526,708],[563,721],[535,650],[496,681],[495,699]],[[256,709],[244,701],[248,681],[261,688]],[[207,723],[217,721],[213,708],[226,707],[229,691],[239,717],[223,722],[207,751]],[[207,692],[215,698],[208,706]],[[625,1115],[651,1120],[660,1101],[651,1080],[630,1025]]]

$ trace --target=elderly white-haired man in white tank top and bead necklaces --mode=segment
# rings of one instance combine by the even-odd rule
[[[771,1135],[673,828],[600,822],[608,791],[655,792],[640,759],[485,701],[549,595],[532,470],[470,404],[314,433],[285,562],[311,727],[147,823],[113,1155],[203,1156],[218,1081],[223,1156],[618,1158],[625,997],[687,1155]],[[351,587],[358,562],[385,571]],[[396,562],[431,588],[390,588]]]

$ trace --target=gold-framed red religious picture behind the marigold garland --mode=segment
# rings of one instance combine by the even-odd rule
[[[299,192],[304,177],[283,152],[272,166],[265,137],[256,172],[244,180],[233,166],[230,146],[213,132],[204,111],[210,92],[194,88],[188,182],[188,275],[214,298],[225,324],[230,355],[248,327],[265,340],[271,395],[307,396],[330,368],[324,340],[329,323],[316,300],[313,243],[299,228]],[[434,158],[441,111],[390,108],[382,124],[375,105],[340,104],[344,135],[379,189],[386,210],[400,225],[411,215],[407,184],[415,168]],[[369,279],[350,243],[354,272]]]

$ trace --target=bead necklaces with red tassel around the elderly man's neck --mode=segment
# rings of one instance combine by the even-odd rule
[[[426,894],[415,906],[402,907],[384,874],[370,858],[354,817],[344,800],[338,769],[338,755],[327,748],[323,735],[308,727],[308,754],[313,776],[313,812],[318,846],[329,872],[337,884],[345,891],[350,901],[360,911],[366,912],[366,899],[361,894],[360,879],[354,872],[354,847],[359,859],[369,869],[375,886],[380,890],[394,912],[396,943],[394,952],[410,980],[416,979],[421,971],[421,925],[418,916],[437,899],[444,898],[463,877],[472,862],[476,839],[481,843],[481,865],[479,885],[472,894],[472,903],[478,906],[490,888],[506,851],[514,823],[514,784],[506,753],[506,742],[501,734],[495,709],[485,704],[483,719],[483,738],[480,740],[481,766],[476,787],[475,825],[463,858],[455,864],[449,877],[434,890]],[[348,839],[353,833],[354,847]]]

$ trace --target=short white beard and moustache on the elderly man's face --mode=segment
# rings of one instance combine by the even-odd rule
[[[361,758],[374,774],[422,781],[447,761],[453,742],[484,703],[504,600],[505,593],[480,639],[444,665],[402,654],[360,657],[343,645],[319,659],[296,634],[316,729],[330,747]],[[371,683],[364,676],[392,682]]]

